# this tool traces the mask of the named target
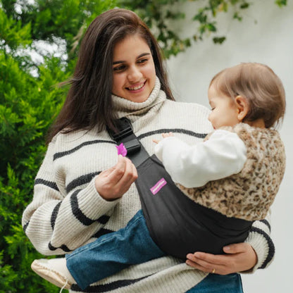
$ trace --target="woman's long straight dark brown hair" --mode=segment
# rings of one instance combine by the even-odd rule
[[[113,84],[113,48],[129,35],[139,34],[149,44],[156,75],[167,99],[174,100],[163,66],[161,49],[149,28],[132,11],[114,8],[101,13],[89,25],[80,46],[80,53],[70,89],[61,112],[49,131],[47,142],[58,132],[75,130],[98,131],[108,126],[115,129],[111,90]]]

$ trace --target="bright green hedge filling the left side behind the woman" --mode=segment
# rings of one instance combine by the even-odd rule
[[[30,269],[35,258],[44,256],[32,247],[21,218],[32,201],[46,133],[68,91],[59,83],[73,73],[79,32],[116,1],[18,1],[22,13],[15,10],[16,2],[0,0],[0,293],[53,293],[58,287]],[[38,51],[34,42],[42,39],[63,39],[63,56]],[[39,65],[27,49],[37,50],[44,62]]]

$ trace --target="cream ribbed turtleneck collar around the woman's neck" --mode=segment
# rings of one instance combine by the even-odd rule
[[[166,94],[161,90],[161,83],[158,77],[154,89],[146,101],[137,103],[127,99],[120,98],[112,94],[113,110],[117,113],[118,118],[127,117],[135,121],[137,118],[150,111],[157,111],[161,107],[163,101],[166,101]]]

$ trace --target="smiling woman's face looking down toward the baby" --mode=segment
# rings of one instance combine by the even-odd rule
[[[139,35],[125,37],[114,46],[112,93],[141,103],[154,89],[156,69],[148,44]]]

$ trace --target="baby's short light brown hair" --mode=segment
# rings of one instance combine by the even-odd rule
[[[277,126],[285,114],[285,89],[271,68],[261,63],[240,63],[216,74],[209,87],[225,96],[243,96],[249,102],[245,121],[262,118],[266,128]]]

